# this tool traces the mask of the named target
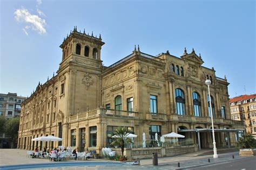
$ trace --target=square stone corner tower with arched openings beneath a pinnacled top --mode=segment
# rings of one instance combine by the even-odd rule
[[[96,109],[101,104],[99,75],[103,66],[100,49],[104,44],[100,35],[99,38],[93,33],[89,36],[85,30],[78,32],[75,26],[59,46],[63,55],[57,72],[58,108],[66,116]]]

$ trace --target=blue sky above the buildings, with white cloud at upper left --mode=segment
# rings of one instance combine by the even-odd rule
[[[201,53],[230,97],[256,93],[255,1],[0,1],[0,93],[28,96],[56,72],[66,34],[102,35],[104,66],[134,45],[151,55]],[[245,87],[245,88],[244,88]]]

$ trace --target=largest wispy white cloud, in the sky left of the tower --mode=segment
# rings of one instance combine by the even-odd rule
[[[17,9],[14,12],[15,19],[17,22],[26,23],[28,25],[25,26],[25,33],[28,35],[27,30],[32,29],[39,34],[45,34],[45,19],[40,18],[37,15],[32,15],[27,9]]]

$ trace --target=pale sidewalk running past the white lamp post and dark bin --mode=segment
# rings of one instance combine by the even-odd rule
[[[229,153],[221,153],[218,154],[219,158],[213,158],[213,155],[203,155],[194,157],[195,153],[188,153],[183,155],[177,155],[174,157],[165,157],[158,158],[158,166],[152,165],[152,159],[142,159],[140,160],[140,165],[143,167],[158,167],[161,169],[184,169],[184,168],[192,168],[198,167],[202,165],[215,164],[219,162],[239,160],[248,157],[241,157],[239,152],[229,152]],[[234,159],[232,156],[234,155]],[[210,159],[210,162],[208,162]],[[178,162],[180,163],[180,167],[178,167]]]

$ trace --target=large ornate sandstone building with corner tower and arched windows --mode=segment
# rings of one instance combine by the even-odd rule
[[[52,134],[63,141],[44,145],[99,152],[109,146],[118,126],[138,134],[134,146],[142,145],[143,132],[147,140],[155,133],[179,132],[201,147],[212,147],[206,79],[212,81],[214,128],[220,129],[217,146],[234,145],[236,129],[243,125],[231,120],[228,82],[215,76],[213,68],[203,67],[194,49],[177,57],[168,51],[152,56],[135,47],[105,67],[100,60],[103,45],[100,36],[77,32],[76,27],[64,39],[57,75],[39,83],[22,104],[19,148],[42,146],[31,139]]]

